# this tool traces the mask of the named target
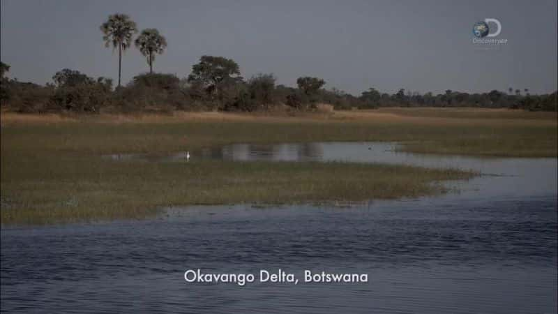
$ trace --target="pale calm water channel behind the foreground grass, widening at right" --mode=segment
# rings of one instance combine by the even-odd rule
[[[556,193],[557,158],[477,158],[472,156],[413,154],[400,151],[394,142],[310,142],[287,144],[232,144],[193,151],[191,160],[234,161],[343,161],[386,163],[418,167],[458,168],[485,174],[467,182],[453,182],[461,193],[477,199],[522,197]],[[115,160],[184,162],[186,152],[170,156],[110,155]],[[497,176],[487,177],[487,174]]]

